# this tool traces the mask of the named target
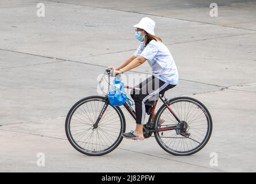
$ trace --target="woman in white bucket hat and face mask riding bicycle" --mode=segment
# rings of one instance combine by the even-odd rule
[[[136,128],[134,131],[123,133],[122,136],[127,139],[144,140],[143,126],[145,122],[145,113],[148,112],[150,105],[147,105],[150,99],[156,99],[159,94],[178,85],[178,70],[174,59],[168,48],[162,43],[162,40],[155,36],[155,22],[144,17],[141,21],[134,25],[135,38],[141,41],[140,46],[121,66],[108,68],[114,69],[116,74],[123,74],[133,68],[140,66],[146,60],[152,68],[152,76],[141,82],[136,87],[137,91],[131,91],[131,97],[135,102]],[[155,118],[153,114],[152,121]],[[160,119],[159,124],[163,124],[164,120]]]

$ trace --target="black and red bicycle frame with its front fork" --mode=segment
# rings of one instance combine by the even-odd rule
[[[126,85],[124,87],[126,89],[131,89],[131,90],[139,90],[136,87],[126,86]],[[108,89],[109,89],[109,87],[108,87]],[[169,106],[170,104],[168,103],[168,99],[165,98],[165,97],[163,98],[163,97],[164,97],[164,95],[159,95],[159,98],[166,105],[167,109],[171,112],[172,116],[175,117],[175,119],[178,121],[178,123],[181,122],[179,120],[178,116],[176,116],[176,114],[170,108],[170,106]],[[157,101],[155,102],[155,105],[153,105],[152,109],[150,110],[149,119],[148,119],[148,122],[146,123],[147,127],[150,127],[150,123],[151,123],[151,120],[152,120],[153,113],[155,112]],[[101,109],[99,117],[97,117],[97,120],[96,120],[95,124],[93,125],[93,128],[97,128],[97,125],[99,124],[100,119],[103,117],[104,112],[106,112],[106,109],[107,109],[108,105],[110,105],[110,102],[108,101],[108,95],[106,95],[106,103],[104,104],[103,108]],[[134,118],[134,120],[136,120],[136,113],[133,110],[133,108],[131,108],[131,106],[127,102],[125,102],[125,104],[123,106],[125,106],[125,109],[131,114],[131,116]],[[159,129],[150,129],[150,130],[148,130],[148,132],[153,133],[153,132],[163,132],[163,131],[171,131],[171,130],[178,130],[178,129],[181,129],[179,124],[178,125],[173,125],[173,126],[167,126],[167,127],[159,128]]]

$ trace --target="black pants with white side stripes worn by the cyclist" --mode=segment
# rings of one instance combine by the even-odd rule
[[[144,122],[145,113],[155,104],[155,101],[159,98],[159,94],[164,94],[165,91],[175,86],[161,81],[154,75],[135,86],[140,90],[132,90],[130,95],[135,102],[136,123],[146,124]]]

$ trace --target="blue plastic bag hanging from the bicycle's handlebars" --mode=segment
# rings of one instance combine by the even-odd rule
[[[114,79],[113,86],[110,87],[110,91],[108,92],[108,100],[112,106],[123,105],[126,101],[129,105],[133,105],[130,99],[126,96],[124,83],[119,78]]]

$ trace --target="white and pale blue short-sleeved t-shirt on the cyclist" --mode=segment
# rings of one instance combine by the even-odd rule
[[[160,41],[151,40],[148,45],[142,42],[134,52],[134,56],[142,56],[152,68],[152,75],[155,75],[161,81],[171,85],[179,84],[179,74],[176,64],[169,49]]]

